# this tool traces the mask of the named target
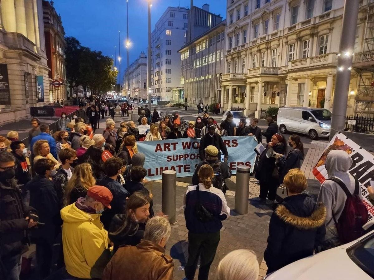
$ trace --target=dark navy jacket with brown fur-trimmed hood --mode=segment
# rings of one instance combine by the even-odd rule
[[[326,208],[305,193],[286,197],[273,212],[264,259],[267,273],[313,255],[325,236]]]

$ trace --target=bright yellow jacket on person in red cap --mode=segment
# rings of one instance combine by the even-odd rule
[[[75,203],[61,209],[62,248],[67,272],[78,278],[91,278],[91,268],[108,248],[108,232],[101,214],[88,214]]]

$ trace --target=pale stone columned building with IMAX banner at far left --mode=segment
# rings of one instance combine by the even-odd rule
[[[50,101],[42,0],[0,1],[0,124]]]

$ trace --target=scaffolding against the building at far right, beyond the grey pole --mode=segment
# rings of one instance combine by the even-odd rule
[[[355,54],[353,69],[358,75],[355,115],[374,116],[374,1],[367,1],[362,52]]]

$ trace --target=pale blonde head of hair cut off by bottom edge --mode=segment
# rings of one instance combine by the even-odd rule
[[[217,280],[257,280],[258,271],[257,257],[252,250],[235,250],[221,259]]]

